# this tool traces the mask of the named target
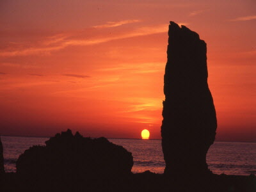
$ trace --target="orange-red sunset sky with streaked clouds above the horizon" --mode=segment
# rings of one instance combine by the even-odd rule
[[[0,3],[0,134],[161,138],[168,24],[207,43],[217,140],[256,141],[256,1]]]

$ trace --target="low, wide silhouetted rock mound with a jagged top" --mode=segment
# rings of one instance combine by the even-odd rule
[[[45,144],[30,147],[19,156],[18,175],[41,179],[100,180],[131,173],[131,152],[106,138],[84,138],[78,132],[73,136],[68,129]]]

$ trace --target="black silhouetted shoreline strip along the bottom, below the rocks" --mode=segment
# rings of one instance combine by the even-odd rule
[[[182,178],[167,177],[152,172],[132,173],[125,177],[109,178],[54,178],[24,179],[17,173],[5,173],[1,179],[1,191],[232,191],[255,192],[256,177],[251,174],[216,175]]]

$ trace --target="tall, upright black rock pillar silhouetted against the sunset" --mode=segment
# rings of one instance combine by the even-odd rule
[[[217,127],[207,84],[206,44],[175,22],[170,22],[168,35],[161,127],[164,173],[202,175],[209,172],[206,154]]]

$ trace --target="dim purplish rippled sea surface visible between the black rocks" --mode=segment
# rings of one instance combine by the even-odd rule
[[[48,138],[1,137],[4,147],[6,172],[15,172],[15,162],[24,150],[33,145],[44,145]],[[109,139],[132,152],[134,166],[132,172],[150,170],[163,173],[164,160],[161,140]],[[228,175],[256,174],[256,143],[215,142],[207,154],[209,169],[214,173]]]

